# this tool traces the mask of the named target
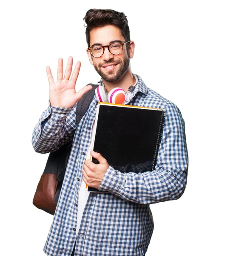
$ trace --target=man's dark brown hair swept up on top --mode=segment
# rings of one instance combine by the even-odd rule
[[[124,12],[117,12],[110,9],[90,9],[83,20],[85,20],[86,23],[86,40],[88,47],[90,47],[91,29],[106,25],[117,26],[121,30],[125,41],[130,41],[128,20]]]

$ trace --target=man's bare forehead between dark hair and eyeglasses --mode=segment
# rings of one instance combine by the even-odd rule
[[[121,30],[117,26],[106,25],[104,27],[94,28],[90,31],[90,46],[93,44],[109,44],[111,41],[125,41]]]

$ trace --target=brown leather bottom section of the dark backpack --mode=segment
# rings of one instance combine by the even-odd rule
[[[54,215],[57,204],[54,202],[54,195],[57,190],[57,175],[52,173],[43,174],[37,186],[33,198],[35,207]]]

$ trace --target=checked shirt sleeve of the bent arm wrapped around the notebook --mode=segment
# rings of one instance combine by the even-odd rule
[[[99,185],[100,191],[139,204],[154,204],[182,196],[188,174],[185,122],[175,104],[168,103],[164,111],[164,128],[155,169],[152,172],[122,173],[109,166]]]

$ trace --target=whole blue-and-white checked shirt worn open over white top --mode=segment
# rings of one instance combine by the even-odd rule
[[[74,108],[49,105],[40,116],[32,135],[35,151],[56,151],[74,139],[45,254],[71,255],[76,243],[75,255],[80,256],[142,256],[153,232],[150,204],[175,200],[183,194],[188,172],[184,120],[176,105],[146,87],[139,76],[138,79],[134,98],[128,105],[165,111],[155,170],[121,173],[109,166],[99,186],[108,193],[90,193],[78,234],[78,192],[98,102],[94,96],[78,126],[76,105]],[[47,122],[43,123],[45,119]]]

